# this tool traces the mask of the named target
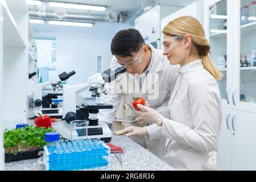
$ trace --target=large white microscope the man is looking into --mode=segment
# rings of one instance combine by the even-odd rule
[[[82,103],[76,106],[76,95],[89,90],[92,92],[92,98],[100,97],[102,93],[108,94],[104,88],[105,83],[115,80],[119,74],[126,72],[125,67],[108,69],[102,73],[96,73],[88,78],[87,83],[69,86],[63,89],[63,130],[62,136],[65,139],[101,139],[104,142],[110,142],[112,132],[105,121],[98,121],[97,113],[100,109],[113,109],[108,104],[88,104]],[[88,123],[86,127],[73,127],[72,123]],[[85,132],[86,130],[86,132]]]

